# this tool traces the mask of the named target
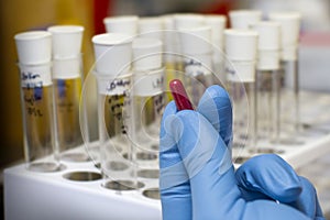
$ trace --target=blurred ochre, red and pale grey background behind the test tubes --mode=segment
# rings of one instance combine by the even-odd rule
[[[229,10],[233,9],[258,9],[265,14],[276,10],[300,11],[302,13],[299,51],[300,85],[304,89],[330,92],[329,0],[1,0],[0,184],[2,185],[2,170],[23,161],[14,34],[31,30],[45,30],[54,24],[84,25],[84,74],[87,75],[94,62],[90,40],[92,35],[105,32],[102,23],[105,16],[120,14],[147,16],[175,12],[228,14]],[[326,166],[330,165],[330,156],[324,155],[320,164],[319,169],[326,169]],[[322,176],[326,178],[324,184],[330,188],[330,174]]]

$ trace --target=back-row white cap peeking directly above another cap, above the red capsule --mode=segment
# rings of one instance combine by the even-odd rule
[[[205,24],[205,16],[201,14],[183,13],[174,14],[174,26],[176,30],[194,29]]]

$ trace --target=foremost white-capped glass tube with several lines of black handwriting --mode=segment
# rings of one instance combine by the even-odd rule
[[[92,37],[98,82],[100,163],[103,187],[134,189],[136,172],[132,166],[131,141],[127,135],[130,121],[132,36],[119,33]],[[124,155],[128,155],[127,157]]]

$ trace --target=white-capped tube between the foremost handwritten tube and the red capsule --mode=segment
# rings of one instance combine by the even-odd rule
[[[133,41],[133,122],[140,168],[157,168],[160,124],[164,98],[163,43],[156,38]],[[145,166],[145,167],[143,167]]]

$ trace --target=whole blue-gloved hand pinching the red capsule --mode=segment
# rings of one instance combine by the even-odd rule
[[[234,172],[232,108],[219,86],[196,111],[167,105],[161,125],[164,220],[324,219],[314,186],[279,156],[251,158]]]

